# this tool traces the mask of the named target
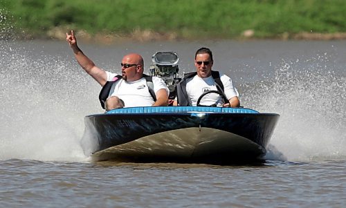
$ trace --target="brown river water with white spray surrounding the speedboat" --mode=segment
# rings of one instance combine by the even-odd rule
[[[279,113],[263,164],[91,162],[85,115],[100,86],[64,41],[1,41],[1,207],[345,207],[346,41],[79,42],[120,72],[136,52],[176,51],[180,73],[212,49],[242,106]]]

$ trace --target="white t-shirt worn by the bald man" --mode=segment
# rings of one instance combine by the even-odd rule
[[[116,77],[116,73],[107,73],[107,81],[112,81]],[[155,94],[161,89],[167,91],[167,95],[170,94],[165,82],[159,77],[152,77]],[[154,99],[149,93],[147,81],[145,78],[138,79],[133,82],[125,81],[120,79],[116,84],[113,84],[109,96],[117,96],[125,103],[126,107],[138,107],[138,106],[152,106]]]

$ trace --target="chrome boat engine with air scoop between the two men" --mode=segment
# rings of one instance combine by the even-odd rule
[[[150,75],[163,79],[170,89],[168,99],[174,100],[176,97],[175,86],[181,80],[179,78],[178,67],[179,57],[175,52],[156,52],[152,55],[152,66]]]

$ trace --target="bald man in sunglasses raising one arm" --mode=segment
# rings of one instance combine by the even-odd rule
[[[71,30],[71,34],[66,33],[66,41],[69,42],[75,59],[86,73],[91,75],[102,87],[111,83],[109,92],[107,91],[107,99],[101,101],[104,102],[106,111],[123,107],[167,106],[170,91],[161,78],[152,77],[155,95],[150,93],[147,79],[145,79],[146,75],[143,74],[142,56],[136,53],[125,55],[121,61],[121,78],[119,78],[120,75],[116,73],[98,68],[89,57],[84,55],[77,45],[73,30]]]

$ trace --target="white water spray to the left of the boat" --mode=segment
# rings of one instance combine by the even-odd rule
[[[80,138],[84,115],[98,111],[92,86],[72,61],[34,57],[9,41],[1,47],[0,160],[87,160]]]

